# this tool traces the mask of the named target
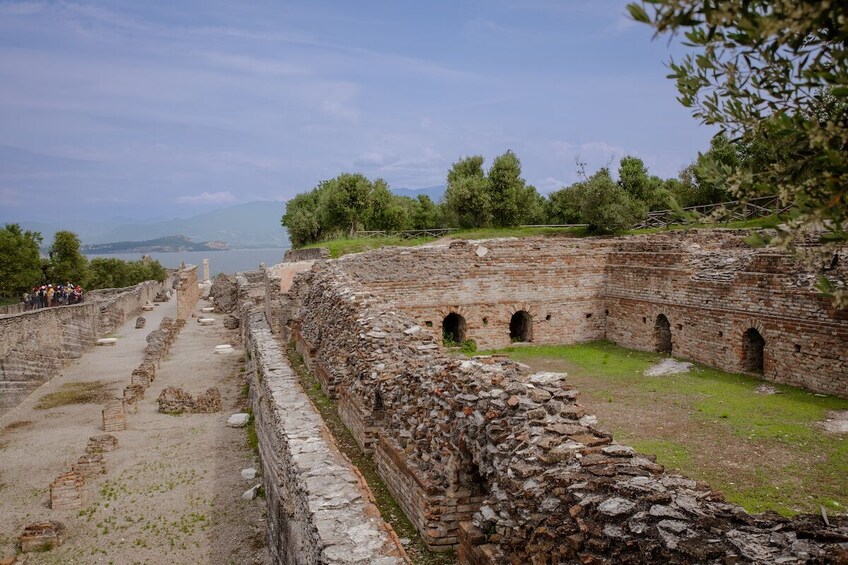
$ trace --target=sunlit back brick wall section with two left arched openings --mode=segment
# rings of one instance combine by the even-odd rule
[[[510,321],[519,311],[532,319],[527,341],[602,339],[607,246],[604,240],[506,238],[386,248],[338,262],[438,336],[447,315],[461,315],[466,337],[488,349],[510,345]]]

